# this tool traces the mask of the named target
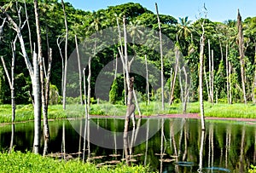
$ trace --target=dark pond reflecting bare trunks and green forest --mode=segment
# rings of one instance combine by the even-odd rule
[[[143,164],[160,172],[247,172],[256,163],[255,122],[207,120],[204,133],[198,119],[142,118],[137,120],[140,128],[130,126],[127,140],[123,140],[124,124],[123,118],[50,121],[48,154],[84,158],[98,166],[122,161]],[[32,150],[32,142],[32,122],[0,126],[1,151],[10,145]],[[40,152],[44,152],[43,138]]]

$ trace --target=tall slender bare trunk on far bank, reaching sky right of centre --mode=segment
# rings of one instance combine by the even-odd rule
[[[164,97],[164,61],[163,61],[163,43],[162,43],[162,32],[161,32],[161,24],[160,24],[160,17],[158,13],[157,3],[155,3],[155,10],[158,20],[158,27],[159,27],[159,38],[160,38],[160,60],[161,60],[161,100],[162,100],[162,110],[165,109],[165,97]]]

